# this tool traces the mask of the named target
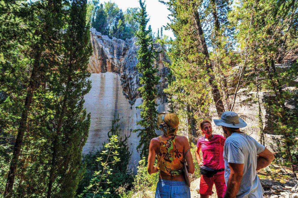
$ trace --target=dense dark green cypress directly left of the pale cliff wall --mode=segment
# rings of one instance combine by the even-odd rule
[[[54,118],[51,133],[52,148],[47,196],[73,197],[83,171],[81,153],[90,126],[86,118],[84,95],[91,88],[87,72],[91,45],[86,25],[87,0],[73,0],[69,23],[64,34],[65,53],[58,71],[53,73],[49,86],[54,93]],[[50,131],[51,129],[49,129]],[[53,184],[59,191],[52,192]]]

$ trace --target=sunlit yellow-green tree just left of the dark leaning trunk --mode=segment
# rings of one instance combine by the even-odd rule
[[[177,113],[181,120],[187,121],[185,125],[191,141],[193,136],[197,136],[198,121],[210,116],[212,98],[215,98],[213,101],[216,104],[220,94],[218,89],[213,89],[217,85],[209,61],[209,52],[206,52],[203,31],[198,29],[200,26],[196,26],[196,9],[189,2],[173,0],[164,4],[168,6],[173,17],[168,28],[172,29],[176,37],[174,41],[169,41],[169,57],[172,63],[169,67],[174,80],[171,80],[164,92],[175,96],[174,102],[179,105]],[[222,108],[219,108],[221,106],[217,105],[218,113],[222,112]]]

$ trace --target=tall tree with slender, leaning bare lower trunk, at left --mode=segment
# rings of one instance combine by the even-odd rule
[[[32,45],[28,56],[32,59],[29,66],[31,71],[30,80],[25,83],[27,94],[22,107],[21,117],[19,119],[18,133],[16,135],[15,145],[13,147],[13,156],[10,161],[10,169],[7,176],[7,183],[4,195],[12,196],[12,190],[19,162],[19,156],[23,144],[24,134],[27,131],[27,121],[32,107],[32,102],[36,96],[36,91],[41,85],[46,83],[46,79],[51,72],[51,68],[58,65],[58,55],[60,52],[60,29],[62,23],[62,2],[61,1],[37,1],[33,2],[34,11],[39,16],[35,20],[28,21],[27,26],[32,28]]]

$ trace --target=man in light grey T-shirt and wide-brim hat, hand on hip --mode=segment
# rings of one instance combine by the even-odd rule
[[[225,111],[221,119],[213,121],[215,125],[222,126],[227,137],[224,145],[224,177],[227,186],[224,197],[263,198],[264,190],[257,170],[267,167],[274,155],[254,138],[240,131],[247,124],[237,113]]]

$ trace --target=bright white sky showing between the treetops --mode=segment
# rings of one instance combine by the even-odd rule
[[[100,0],[99,3],[107,2],[108,0]],[[128,7],[140,7],[138,0],[110,0],[111,2],[115,2],[120,9],[124,12]],[[143,1],[143,0],[142,0]],[[166,0],[165,0],[166,1]],[[158,0],[146,0],[146,11],[148,17],[150,18],[148,25],[151,25],[152,31],[156,32],[157,28],[166,26],[167,23],[170,23],[170,20],[167,16],[170,14],[170,11],[167,9],[167,6],[160,3]],[[164,30],[162,33],[167,35],[169,38],[172,37],[174,39],[174,34],[171,30]]]

